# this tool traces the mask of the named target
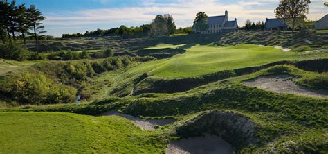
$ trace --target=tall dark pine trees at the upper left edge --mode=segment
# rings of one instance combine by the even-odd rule
[[[16,5],[16,1],[0,1],[0,36],[3,44],[15,42],[19,37],[26,45],[26,37],[33,36],[38,51],[38,35],[45,33],[41,23],[44,19],[46,17],[34,5],[27,8],[25,4]]]

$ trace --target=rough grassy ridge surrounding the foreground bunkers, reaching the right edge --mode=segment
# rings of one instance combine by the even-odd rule
[[[259,143],[256,145],[237,146],[235,149],[237,151],[326,153],[328,151],[325,144],[328,141],[328,126],[325,121],[327,121],[328,100],[294,94],[277,94],[242,84],[243,80],[269,74],[297,76],[300,80],[295,80],[295,82],[300,84],[304,84],[302,80],[309,80],[314,76],[326,76],[325,73],[318,74],[302,71],[289,65],[283,67],[278,65],[257,71],[254,74],[219,80],[188,92],[142,94],[89,104],[32,106],[11,108],[6,111],[60,111],[97,114],[107,110],[121,110],[137,117],[174,117],[178,119],[178,122],[170,128],[176,129],[179,129],[181,123],[185,123],[185,121],[189,121],[205,111],[233,111],[255,123],[255,135],[259,139]],[[307,84],[309,84],[308,87],[315,85]],[[163,129],[161,131],[167,132],[168,130]],[[197,132],[197,130],[195,131]],[[207,131],[211,132],[212,130]],[[167,133],[170,136],[179,137],[170,131]],[[195,132],[187,133],[190,133],[188,135],[195,134]]]

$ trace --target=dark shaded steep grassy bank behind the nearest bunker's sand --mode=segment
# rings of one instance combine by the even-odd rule
[[[206,135],[215,135],[215,137],[221,140],[224,139],[224,142],[218,142],[222,143],[222,145],[226,145],[222,148],[231,149],[228,147],[232,147],[235,151],[238,151],[242,147],[256,145],[258,143],[258,139],[255,136],[255,127],[255,123],[247,117],[244,117],[243,114],[232,111],[210,110],[203,112],[190,121],[182,123],[181,126],[176,128],[176,134],[183,138],[188,138],[190,135],[192,135],[192,137],[205,135],[206,138],[203,142],[212,139]],[[210,144],[211,142],[206,143]],[[230,146],[227,146],[227,144]],[[174,144],[170,146],[174,146]],[[206,149],[215,148],[210,148],[210,146],[208,146]],[[230,150],[230,152],[231,151],[232,150]]]

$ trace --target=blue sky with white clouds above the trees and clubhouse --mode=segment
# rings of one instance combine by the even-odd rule
[[[156,15],[170,14],[177,27],[192,26],[197,12],[208,16],[224,15],[237,18],[239,26],[246,19],[252,22],[275,17],[279,0],[16,0],[31,4],[46,17],[43,22],[46,35],[61,37],[63,33],[84,33],[97,28],[109,29],[149,24]],[[323,3],[328,0],[311,0],[307,19],[318,20],[328,14]]]

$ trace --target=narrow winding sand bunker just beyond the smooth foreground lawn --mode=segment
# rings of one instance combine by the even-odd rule
[[[116,111],[105,112],[99,114],[99,116],[119,116],[124,117],[132,121],[136,126],[140,127],[142,130],[156,130],[155,126],[165,126],[173,123],[174,119],[140,119],[138,117],[133,117],[131,115],[122,114]]]

